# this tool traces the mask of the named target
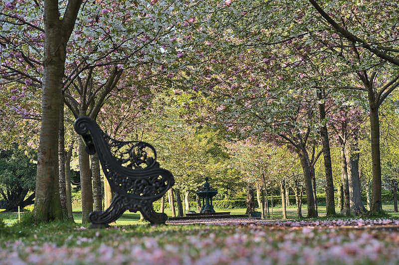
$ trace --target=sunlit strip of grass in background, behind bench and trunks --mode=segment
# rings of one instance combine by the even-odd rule
[[[29,209],[29,208],[28,208]],[[31,208],[29,209],[31,210]],[[74,221],[76,223],[81,223],[82,222],[82,214],[79,212],[79,208],[74,208]],[[259,209],[255,209],[256,211],[259,211]],[[394,212],[394,205],[383,205],[383,210],[388,213],[390,216],[394,218],[399,218],[399,213]],[[246,209],[215,209],[216,212],[230,212],[230,214],[244,214]],[[336,212],[339,213],[339,209],[336,209]],[[167,209],[165,213],[168,216],[172,216],[172,212]],[[268,220],[279,220],[282,219],[282,209],[281,208],[269,208],[269,213],[270,213],[270,218]],[[319,217],[325,217],[326,216],[326,207],[325,206],[319,206],[318,207],[318,213]],[[21,217],[26,214],[25,212],[21,212]],[[307,208],[306,205],[302,207],[302,215],[306,217],[307,215]],[[4,213],[0,212],[0,218],[4,220],[4,222],[7,225],[12,225],[18,222],[18,213]],[[288,219],[297,219],[297,210],[296,208],[287,208],[287,218]],[[125,212],[121,218],[119,218],[114,225],[135,225],[135,224],[141,224],[143,222],[140,221],[140,214],[137,213],[131,213],[129,211]]]

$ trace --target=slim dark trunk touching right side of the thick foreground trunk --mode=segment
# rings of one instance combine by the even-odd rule
[[[63,96],[62,96],[63,97]],[[64,105],[60,107],[59,113],[59,135],[58,135],[58,181],[59,199],[61,202],[62,215],[68,219],[68,208],[66,202],[66,181],[65,181],[65,131],[64,131]]]

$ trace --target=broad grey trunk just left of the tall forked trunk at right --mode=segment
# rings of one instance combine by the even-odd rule
[[[367,210],[362,201],[362,188],[359,178],[359,151],[356,144],[356,139],[353,144],[346,144],[345,156],[348,169],[350,211],[354,215],[362,215],[367,213]],[[351,149],[353,149],[353,152],[351,152]]]

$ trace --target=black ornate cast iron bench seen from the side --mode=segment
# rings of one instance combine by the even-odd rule
[[[165,223],[168,216],[155,212],[153,202],[164,196],[175,179],[170,171],[160,168],[155,148],[143,141],[112,139],[87,116],[77,118],[74,128],[81,135],[86,151],[97,152],[115,193],[108,209],[89,214],[90,227],[108,227],[126,210],[140,211],[151,224]]]

